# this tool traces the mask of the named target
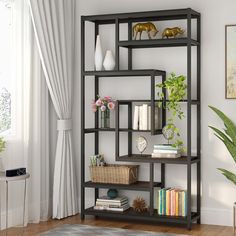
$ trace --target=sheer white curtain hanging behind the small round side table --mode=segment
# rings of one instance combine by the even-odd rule
[[[12,49],[15,57],[12,63],[17,84],[13,114],[15,132],[7,138],[4,159],[6,168],[27,167],[31,177],[28,184],[26,222],[36,223],[51,216],[49,95],[35,44],[28,1],[11,0],[10,2],[13,4],[15,39]],[[22,191],[21,185],[17,183],[10,188],[10,225],[18,225],[22,222]],[[0,194],[4,195],[3,186]],[[1,222],[3,226],[4,216]]]

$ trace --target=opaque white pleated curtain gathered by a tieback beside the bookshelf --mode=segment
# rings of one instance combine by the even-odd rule
[[[74,0],[29,0],[50,96],[58,116],[53,218],[78,213],[71,137],[74,70]]]

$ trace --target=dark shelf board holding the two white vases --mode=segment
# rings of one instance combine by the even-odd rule
[[[166,72],[163,70],[153,70],[153,69],[145,69],[145,70],[102,70],[102,71],[84,71],[82,75],[84,76],[97,76],[97,77],[137,77],[137,76],[159,76],[165,75]]]

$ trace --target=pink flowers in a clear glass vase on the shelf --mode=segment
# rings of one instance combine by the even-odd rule
[[[98,96],[96,101],[92,103],[93,112],[100,111],[101,128],[110,128],[110,111],[115,109],[115,100],[110,96],[101,98]]]

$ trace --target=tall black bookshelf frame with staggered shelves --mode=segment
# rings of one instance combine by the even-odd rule
[[[135,13],[121,13],[121,14],[107,14],[107,15],[93,15],[81,16],[81,219],[85,215],[95,215],[101,217],[109,217],[115,219],[130,219],[130,220],[147,220],[153,222],[166,222],[171,224],[183,224],[188,229],[191,229],[192,223],[200,223],[201,215],[201,19],[200,13],[190,9],[177,9],[177,10],[161,10],[149,12],[135,12]],[[142,21],[165,21],[165,20],[187,20],[187,37],[175,39],[152,39],[152,40],[132,40],[132,23]],[[197,24],[197,39],[191,37],[192,19],[196,19]],[[95,37],[99,34],[99,26],[103,24],[115,24],[115,59],[116,68],[114,71],[85,71],[85,22],[94,23]],[[128,24],[128,40],[120,41],[119,25],[121,23]],[[192,99],[191,91],[191,48],[197,47],[197,98]],[[128,50],[128,70],[120,70],[119,67],[119,53],[120,47],[127,48]],[[178,159],[153,159],[151,155],[137,155],[132,154],[132,133],[133,132],[147,132],[132,129],[132,103],[134,102],[149,102],[151,104],[152,125],[151,134],[161,134],[161,130],[155,129],[154,126],[154,109],[155,109],[155,76],[162,76],[165,79],[165,71],[160,70],[132,70],[132,50],[136,48],[154,48],[154,47],[187,47],[187,99],[181,102],[187,104],[187,155]],[[94,96],[99,94],[99,80],[101,77],[122,77],[122,76],[150,76],[151,78],[151,99],[150,100],[119,100],[117,101],[116,108],[116,126],[115,128],[101,129],[99,128],[98,112],[95,113],[95,121],[93,128],[85,128],[85,80],[87,76],[94,77]],[[128,128],[119,127],[119,106],[128,106]],[[192,156],[191,153],[191,128],[192,128],[192,105],[197,107],[197,154]],[[165,124],[165,112],[162,112],[162,125]],[[127,162],[140,162],[149,163],[150,173],[149,181],[138,181],[132,185],[119,185],[119,184],[102,184],[92,183],[85,181],[85,135],[94,133],[94,153],[99,153],[99,133],[100,132],[115,132],[116,136],[116,161]],[[119,155],[119,133],[128,133],[128,155]],[[161,164],[161,181],[154,182],[154,164]],[[165,187],[165,166],[166,164],[183,164],[187,166],[187,216],[161,216],[158,215],[153,207],[154,187]],[[191,211],[192,206],[192,165],[196,164],[197,168],[197,210]],[[132,209],[118,213],[94,210],[93,207],[85,209],[85,188],[94,188],[95,196],[94,201],[98,198],[99,188],[116,188],[128,189],[134,191],[148,191],[150,193],[150,210],[146,213],[137,213]]]

